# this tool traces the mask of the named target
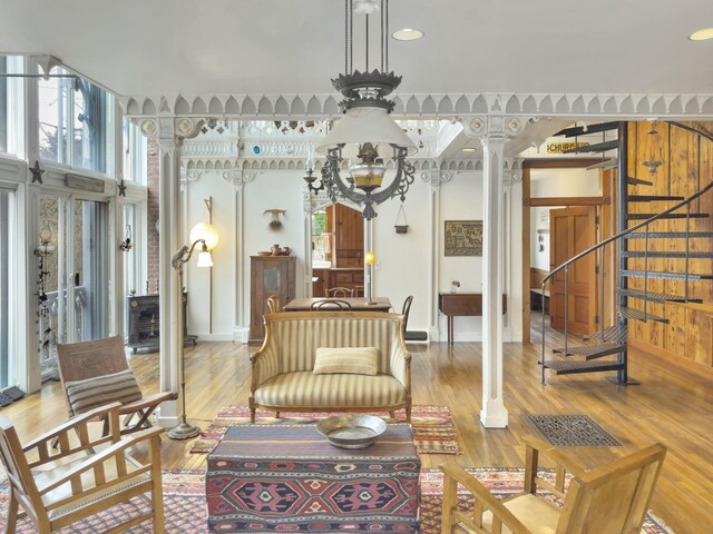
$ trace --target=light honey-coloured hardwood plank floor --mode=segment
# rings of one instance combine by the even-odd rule
[[[539,382],[539,345],[505,345],[506,406],[509,426],[486,429],[478,415],[481,405],[480,344],[410,345],[416,404],[447,405],[455,419],[463,455],[423,455],[423,467],[455,461],[463,466],[521,466],[524,435],[533,433],[528,414],[587,414],[618,438],[623,447],[569,447],[586,466],[613,455],[661,442],[668,447],[662,478],[652,504],[676,532],[710,533],[713,525],[713,375],[693,373],[642,353],[631,354],[631,375],[641,386],[621,387],[606,374],[549,376]],[[198,343],[186,347],[188,417],[205,427],[217,411],[247,404],[248,356],[255,347],[232,343]],[[131,356],[145,393],[158,387],[158,354]],[[66,418],[56,382],[6,408],[27,441]],[[188,454],[191,441],[165,438],[165,468],[205,468],[205,455]]]

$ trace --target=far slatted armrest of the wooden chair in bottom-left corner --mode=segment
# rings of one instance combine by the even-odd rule
[[[111,442],[116,442],[119,439],[119,408],[120,408],[121,404],[119,403],[111,403],[111,404],[106,404],[104,406],[99,406],[95,409],[90,409],[89,412],[86,412],[84,414],[80,414],[76,417],[72,417],[71,419],[69,419],[67,423],[64,423],[61,425],[59,425],[56,428],[52,428],[51,431],[42,434],[41,436],[32,439],[30,443],[28,443],[22,451],[25,453],[30,452],[33,448],[38,449],[38,453],[40,455],[40,463],[39,464],[35,464],[35,465],[41,465],[46,462],[51,462],[53,459],[57,459],[59,456],[55,455],[55,456],[47,456],[48,449],[49,449],[49,444],[51,441],[53,439],[58,439],[59,444],[62,448],[62,451],[67,449],[67,447],[69,447],[69,443],[68,443],[68,434],[69,432],[77,429],[77,433],[79,434],[79,441],[80,441],[80,446],[79,447],[75,447],[71,451],[65,451],[67,452],[67,454],[74,454],[78,451],[82,451],[82,449],[87,449],[87,448],[91,448],[96,445],[100,445],[102,443],[107,443],[109,441]],[[109,435],[108,436],[104,436],[99,439],[96,439],[94,442],[89,441],[89,434],[87,431],[87,423],[89,423],[89,421],[91,419],[96,419],[98,417],[108,417],[109,419]],[[84,443],[82,443],[84,442]]]

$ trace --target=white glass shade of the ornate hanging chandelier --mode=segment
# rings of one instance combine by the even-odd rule
[[[338,145],[344,145],[342,157],[353,159],[359,152],[359,146],[371,142],[384,159],[393,157],[390,145],[416,150],[416,145],[383,108],[354,107],[346,110],[336,121],[332,131],[318,145],[316,151],[323,155]]]

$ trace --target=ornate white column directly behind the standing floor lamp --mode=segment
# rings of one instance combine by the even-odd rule
[[[194,137],[201,128],[201,120],[158,117],[139,122],[141,132],[158,140],[158,212],[160,220],[158,263],[159,263],[159,333],[160,333],[160,390],[178,392],[179,362],[178,347],[183,344],[180,325],[182,297],[178,288],[178,274],[170,260],[185,245],[187,236],[183,231],[183,206],[180,201],[180,146],[184,138]],[[160,426],[173,427],[178,424],[176,402],[163,403],[157,411],[156,421]]]

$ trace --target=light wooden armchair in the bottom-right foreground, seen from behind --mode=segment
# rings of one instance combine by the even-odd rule
[[[480,534],[638,534],[666,455],[660,443],[609,464],[586,471],[568,456],[533,437],[526,437],[525,491],[504,501],[496,498],[471,474],[456,464],[442,465],[443,515],[441,533]],[[556,464],[554,484],[543,479],[537,468],[539,454]],[[567,473],[572,475],[566,488]],[[473,511],[458,510],[458,485],[475,497]],[[549,491],[564,501],[558,507],[538,494]]]

